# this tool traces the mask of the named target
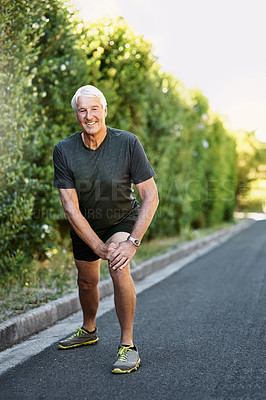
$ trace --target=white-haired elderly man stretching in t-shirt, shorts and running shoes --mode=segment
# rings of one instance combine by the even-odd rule
[[[134,134],[105,125],[107,103],[100,90],[82,86],[71,105],[82,130],[56,144],[54,186],[71,225],[83,325],[58,347],[97,342],[100,259],[108,260],[121,328],[112,372],[129,373],[140,365],[133,343],[136,294],[130,261],[158,206],[154,171]]]

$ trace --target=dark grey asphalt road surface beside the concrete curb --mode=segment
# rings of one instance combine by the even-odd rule
[[[1,375],[0,399],[265,400],[265,231],[254,223],[138,295],[138,371],[110,372],[111,310],[98,318],[97,345],[53,344]]]

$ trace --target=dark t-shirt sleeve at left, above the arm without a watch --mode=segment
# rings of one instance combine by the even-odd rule
[[[72,173],[67,168],[66,159],[58,144],[54,148],[54,187],[59,189],[74,189],[75,182]]]

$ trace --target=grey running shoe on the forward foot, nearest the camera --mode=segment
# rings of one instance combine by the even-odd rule
[[[120,346],[117,360],[113,364],[113,374],[129,374],[140,366],[139,352],[135,346]]]

